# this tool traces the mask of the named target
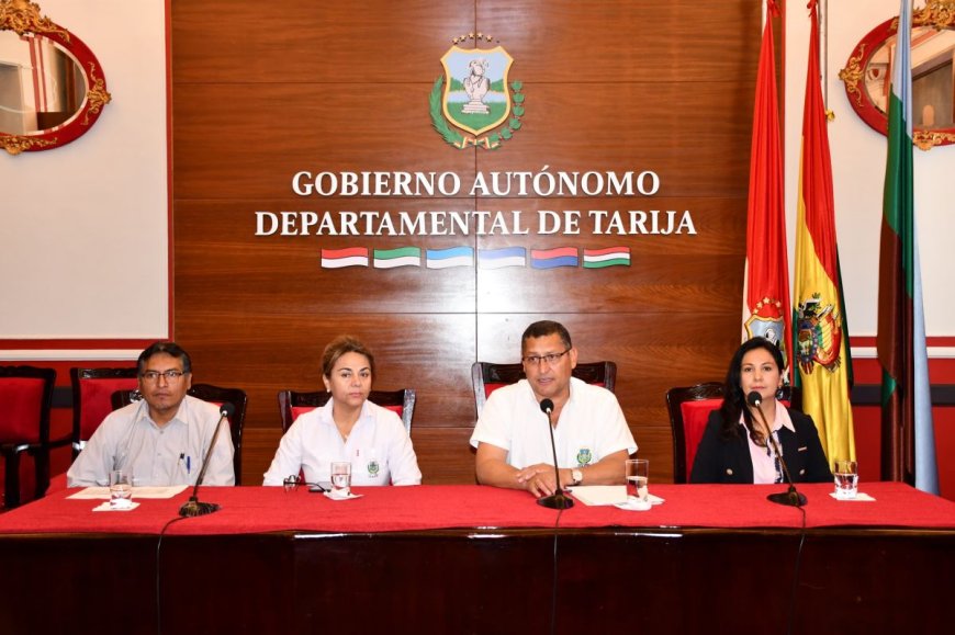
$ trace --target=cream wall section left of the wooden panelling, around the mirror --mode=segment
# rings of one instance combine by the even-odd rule
[[[165,337],[165,0],[37,1],[113,102],[71,144],[0,156],[0,339]]]

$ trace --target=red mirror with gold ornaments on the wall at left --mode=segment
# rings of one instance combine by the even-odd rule
[[[49,150],[89,131],[112,97],[93,52],[29,0],[0,0],[0,146]]]

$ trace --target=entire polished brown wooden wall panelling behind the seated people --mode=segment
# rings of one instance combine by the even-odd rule
[[[760,7],[700,3],[254,0],[172,2],[176,338],[196,381],[249,393],[247,483],[279,440],[276,393],[317,389],[337,334],[375,352],[379,388],[411,385],[425,483],[472,483],[470,367],[516,361],[536,319],[568,325],[582,361],[618,363],[617,394],[654,478],[672,476],[663,395],[719,379],[740,337]],[[428,93],[451,38],[492,34],[525,84],[521,129],[458,150]],[[481,171],[653,170],[655,196],[475,196]],[[300,170],[448,171],[450,197],[319,197]],[[697,234],[255,236],[255,212],[675,209]],[[321,268],[321,250],[626,246],[629,268]]]

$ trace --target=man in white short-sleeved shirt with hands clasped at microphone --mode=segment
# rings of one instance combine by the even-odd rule
[[[526,489],[540,498],[575,485],[623,484],[623,461],[637,452],[617,397],[572,376],[577,350],[563,325],[533,322],[520,339],[526,379],[494,390],[474,427],[482,485]],[[557,483],[548,417],[553,401]]]

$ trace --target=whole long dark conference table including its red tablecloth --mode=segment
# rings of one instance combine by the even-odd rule
[[[649,511],[481,486],[203,488],[128,512],[64,490],[0,515],[0,633],[943,633],[955,502],[658,485]],[[804,515],[805,512],[805,515]]]

